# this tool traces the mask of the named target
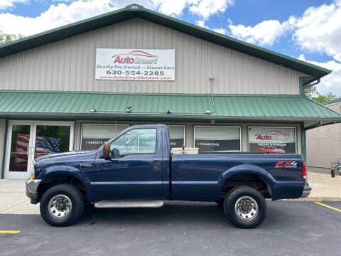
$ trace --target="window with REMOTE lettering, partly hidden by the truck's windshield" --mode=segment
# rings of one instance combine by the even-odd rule
[[[98,149],[128,127],[128,124],[83,124],[81,149]]]

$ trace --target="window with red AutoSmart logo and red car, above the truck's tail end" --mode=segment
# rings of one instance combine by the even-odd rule
[[[249,127],[249,151],[296,153],[295,127]]]

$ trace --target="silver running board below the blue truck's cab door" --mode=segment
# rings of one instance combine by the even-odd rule
[[[162,206],[163,201],[157,200],[111,200],[94,204],[94,208],[158,208]]]

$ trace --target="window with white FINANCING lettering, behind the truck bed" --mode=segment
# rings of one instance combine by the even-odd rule
[[[195,126],[194,144],[202,151],[240,151],[240,127]]]

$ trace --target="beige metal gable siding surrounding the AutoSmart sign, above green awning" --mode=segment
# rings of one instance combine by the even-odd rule
[[[175,81],[94,80],[96,48],[175,49]],[[0,58],[0,90],[298,94],[300,76],[139,18]]]

